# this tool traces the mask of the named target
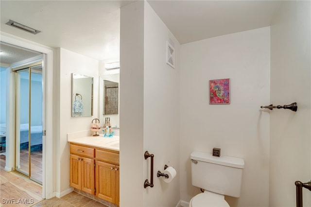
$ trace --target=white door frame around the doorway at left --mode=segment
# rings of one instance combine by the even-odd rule
[[[42,138],[42,147],[43,147],[43,154],[42,154],[42,171],[43,171],[43,178],[42,178],[42,198],[52,198],[54,197],[53,192],[53,182],[54,182],[54,173],[53,173],[53,49],[50,47],[46,47],[44,45],[36,44],[35,42],[31,42],[26,39],[22,39],[13,35],[1,33],[0,39],[2,42],[9,43],[12,45],[16,45],[22,48],[34,50],[37,52],[43,53],[43,102],[45,108],[45,116],[43,120],[45,122],[45,126],[42,129],[46,130],[46,136]],[[10,74],[12,77],[12,74]],[[47,95],[49,94],[49,95]],[[12,100],[11,98],[9,100]],[[14,113],[9,109],[9,113]],[[8,117],[8,116],[7,116]],[[13,135],[14,128],[14,120],[9,119],[7,120],[10,124],[10,129],[8,129],[8,133]],[[49,146],[49,147],[47,147]],[[14,153],[14,152],[13,152]],[[12,153],[10,153],[10,157]],[[12,163],[13,161],[13,163]],[[8,160],[5,163],[5,170],[12,171],[12,167],[14,167],[14,159]]]

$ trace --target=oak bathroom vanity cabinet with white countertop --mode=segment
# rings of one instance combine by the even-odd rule
[[[68,138],[70,186],[119,206],[119,140],[117,136]]]

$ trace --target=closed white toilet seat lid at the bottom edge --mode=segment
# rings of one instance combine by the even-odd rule
[[[191,207],[229,207],[224,198],[200,193],[191,199]]]

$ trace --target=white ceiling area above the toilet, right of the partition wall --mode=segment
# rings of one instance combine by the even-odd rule
[[[148,0],[180,44],[269,26],[280,0]]]

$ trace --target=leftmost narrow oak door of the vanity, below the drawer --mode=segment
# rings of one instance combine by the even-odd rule
[[[81,162],[80,157],[70,154],[70,186],[81,190]]]

